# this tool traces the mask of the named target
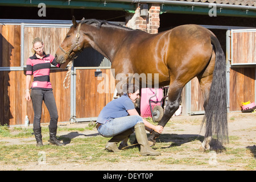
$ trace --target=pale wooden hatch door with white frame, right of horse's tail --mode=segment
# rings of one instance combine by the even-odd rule
[[[232,34],[232,64],[256,64],[256,31]]]

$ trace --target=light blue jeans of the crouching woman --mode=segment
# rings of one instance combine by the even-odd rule
[[[126,117],[111,119],[106,121],[104,125],[98,127],[98,132],[104,137],[113,137],[119,133],[123,133],[128,129],[133,129],[137,123],[143,122],[139,115],[129,115]]]

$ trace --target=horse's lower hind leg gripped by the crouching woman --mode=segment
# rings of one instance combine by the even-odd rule
[[[183,89],[183,86],[180,86],[180,84],[174,83],[169,86],[168,89],[168,101],[166,105],[166,109],[164,111],[164,115],[162,119],[159,121],[158,125],[166,126],[166,123],[170,120],[172,115],[175,113],[177,109],[179,109],[179,105],[181,102],[181,91]],[[152,132],[152,134],[148,137],[148,141],[151,145],[155,144],[155,139],[160,136],[159,133],[156,133],[155,131]]]

